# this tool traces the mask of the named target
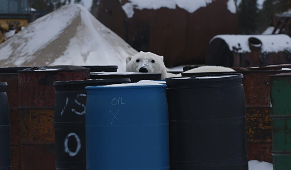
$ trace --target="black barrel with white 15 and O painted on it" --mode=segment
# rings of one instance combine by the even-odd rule
[[[86,170],[85,107],[87,93],[85,87],[128,82],[130,79],[54,82],[57,170]]]

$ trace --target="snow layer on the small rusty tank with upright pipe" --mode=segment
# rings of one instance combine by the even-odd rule
[[[271,53],[271,52],[279,52],[288,50],[291,52],[291,38],[285,34],[278,35],[217,35],[212,38],[212,40],[216,38],[221,38],[224,40],[228,46],[229,50],[232,51],[235,47],[238,49],[239,53],[251,52],[249,48],[250,37],[256,37],[263,43],[261,52]],[[210,43],[212,42],[210,40]]]

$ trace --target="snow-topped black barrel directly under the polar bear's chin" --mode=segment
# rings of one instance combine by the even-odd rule
[[[140,80],[160,80],[162,74],[140,73],[140,72],[112,72],[112,73],[91,73],[91,79],[130,79],[132,83]]]

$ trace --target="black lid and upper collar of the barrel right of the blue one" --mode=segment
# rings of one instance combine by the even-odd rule
[[[167,78],[168,88],[211,88],[242,84],[243,74],[210,74]]]

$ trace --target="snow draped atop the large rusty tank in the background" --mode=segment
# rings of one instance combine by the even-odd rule
[[[119,0],[120,3],[122,0]],[[128,18],[132,18],[134,14],[134,9],[160,9],[160,8],[169,8],[176,9],[179,8],[185,9],[189,13],[193,13],[199,8],[206,7],[208,4],[211,4],[215,0],[129,0],[129,2],[122,5],[122,9],[126,13]],[[227,6],[229,11],[236,13],[236,7],[234,0],[228,0]]]

